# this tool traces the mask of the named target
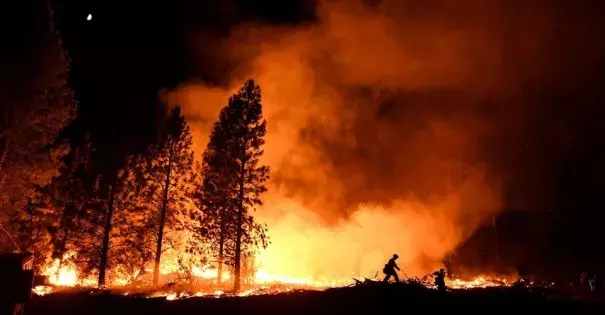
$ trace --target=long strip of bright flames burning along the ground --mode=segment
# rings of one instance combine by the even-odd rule
[[[166,300],[188,299],[194,297],[246,297],[253,295],[274,295],[280,293],[289,293],[297,291],[323,291],[332,288],[344,288],[352,286],[376,286],[379,285],[383,275],[376,273],[374,276],[365,278],[329,278],[316,279],[308,278],[292,278],[285,276],[275,276],[269,274],[266,270],[257,270],[252,278],[247,279],[243,291],[233,293],[231,288],[231,274],[225,272],[223,274],[222,285],[217,285],[217,270],[216,269],[199,269],[194,268],[193,276],[189,281],[177,281],[182,274],[178,272],[169,273],[166,270],[162,271],[162,279],[169,279],[164,282],[159,288],[153,288],[148,285],[145,279],[135,283],[123,281],[114,281],[109,288],[96,289],[96,279],[94,277],[79,277],[78,269],[73,264],[63,264],[59,266],[59,261],[48,267],[43,273],[50,274],[47,277],[46,283],[38,283],[33,288],[33,293],[36,296],[61,295],[73,293],[90,293],[107,292],[124,296],[137,296],[146,298],[165,298]],[[405,284],[423,287],[427,289],[435,289],[432,275],[425,275],[422,278],[408,277],[405,272],[400,273],[402,281]],[[523,287],[532,287],[534,283],[517,282],[519,278],[515,275],[509,276],[474,276],[467,278],[459,278],[457,276],[448,277],[446,284],[450,290],[468,290],[476,288],[490,287],[510,287],[513,284]],[[553,284],[554,285],[554,284]],[[548,284],[546,286],[551,286]],[[540,287],[545,287],[540,284]]]

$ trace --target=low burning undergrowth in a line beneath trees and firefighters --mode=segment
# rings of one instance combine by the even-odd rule
[[[338,288],[358,287],[358,286],[384,286],[382,279],[378,274],[371,278],[349,278],[332,279],[331,281],[318,281],[313,279],[287,279],[282,282],[268,279],[263,272],[257,273],[256,279],[249,281],[242,287],[240,292],[233,292],[230,286],[217,285],[215,278],[199,275],[194,277],[193,281],[188,283],[168,282],[156,289],[148,284],[129,284],[114,285],[111,287],[97,288],[87,284],[93,283],[91,280],[74,281],[75,271],[68,271],[64,267],[59,275],[63,278],[49,277],[43,285],[37,285],[33,288],[33,293],[37,296],[49,294],[84,294],[84,295],[121,295],[132,298],[163,298],[169,301],[189,299],[189,298],[228,298],[228,297],[247,297],[257,295],[280,295],[293,294],[298,292],[324,291]],[[211,273],[206,273],[211,276]],[[178,278],[178,275],[164,275],[172,278]],[[229,280],[229,274],[226,275]],[[286,282],[290,281],[290,282]],[[431,274],[423,277],[407,277],[404,273],[404,279],[399,285],[420,290],[437,289],[434,277]],[[448,290],[470,290],[482,288],[507,288],[511,286],[532,287],[533,282],[527,279],[519,279],[514,276],[476,276],[468,278],[450,277],[446,279]],[[543,284],[541,286],[544,286]]]

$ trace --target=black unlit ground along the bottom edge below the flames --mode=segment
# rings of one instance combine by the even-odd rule
[[[71,314],[604,314],[597,299],[556,297],[547,291],[482,289],[440,294],[424,288],[387,285],[243,298],[137,298],[59,293],[36,297],[28,315]]]

